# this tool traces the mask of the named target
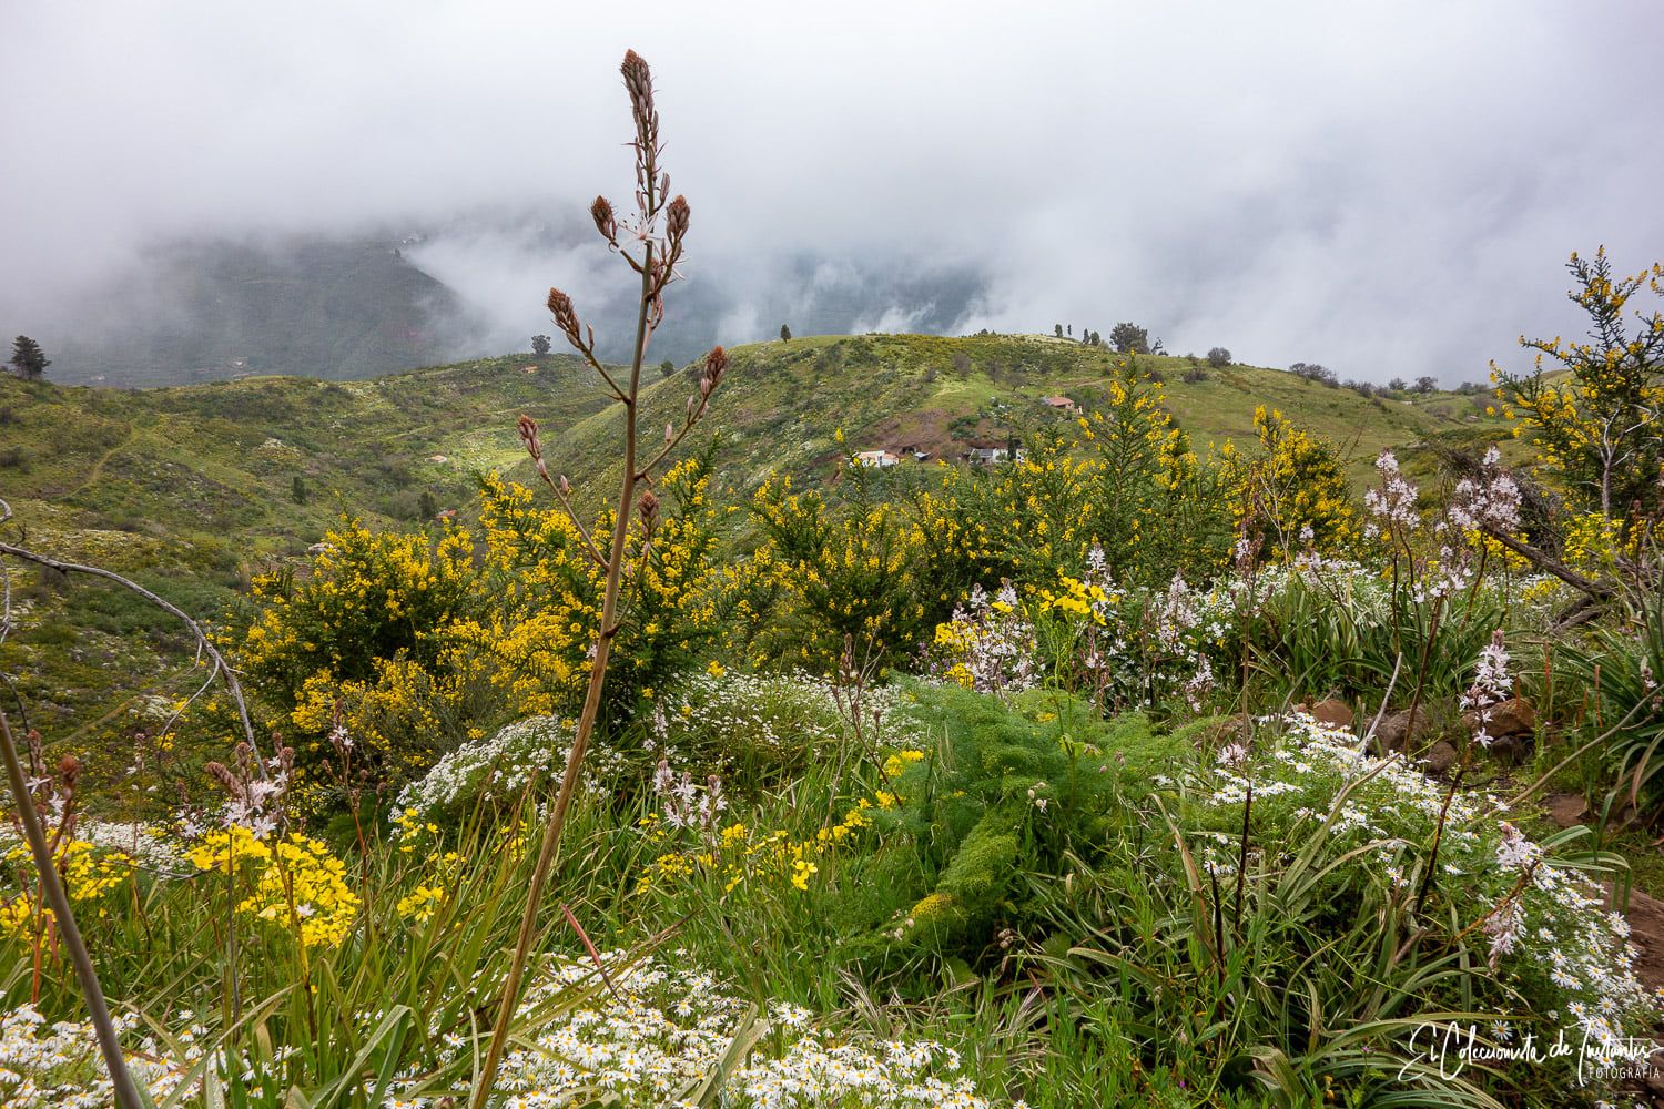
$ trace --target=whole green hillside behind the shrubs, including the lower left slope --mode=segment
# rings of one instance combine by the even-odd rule
[[[1090,406],[1115,357],[1045,336],[744,346],[732,351],[701,441],[719,434],[724,495],[742,495],[770,467],[832,479],[839,429],[849,451],[909,446],[929,452],[930,464],[952,461],[972,441],[1005,442],[1067,419],[1045,396]],[[1251,444],[1255,406],[1271,404],[1346,444],[1359,485],[1381,447],[1399,447],[1414,462],[1419,442],[1503,436],[1499,421],[1483,416],[1483,397],[1364,397],[1273,369],[1201,374],[1181,357],[1140,364],[1161,374],[1168,407],[1198,449]],[[647,427],[681,416],[687,369],[649,387]],[[484,471],[529,481],[514,431],[522,411],[542,422],[551,464],[599,502],[621,409],[571,357],[483,359],[356,382],[250,377],[136,392],[0,377],[0,497],[17,512],[8,534],[20,542],[130,574],[213,617],[236,602],[251,574],[303,557],[341,512],[413,529],[428,519],[424,509],[469,515]],[[1429,462],[1423,452],[1421,464]],[[922,464],[909,459],[899,472],[909,471],[922,472]],[[13,585],[17,628],[0,645],[0,673],[55,745],[120,743],[153,698],[193,688],[188,640],[128,594],[17,569]],[[15,703],[3,690],[0,697]],[[88,773],[98,781],[110,770]]]

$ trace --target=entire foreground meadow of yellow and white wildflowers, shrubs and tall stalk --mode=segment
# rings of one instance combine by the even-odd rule
[[[697,206],[621,75],[632,357],[546,301],[589,481],[521,416],[461,510],[343,505],[213,610],[5,534],[0,638],[103,575],[191,690],[125,776],[0,700],[0,1104],[1664,1091],[1659,268],[1572,256],[1591,339],[1368,482],[1270,401],[1205,442],[1137,349],[987,464],[737,472],[740,359],[649,357]]]

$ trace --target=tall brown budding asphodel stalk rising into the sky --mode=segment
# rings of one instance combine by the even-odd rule
[[[577,718],[577,735],[572,750],[566,758],[566,770],[561,775],[561,790],[549,806],[542,826],[542,841],[537,848],[537,863],[532,870],[531,886],[526,891],[526,911],[521,914],[519,939],[514,944],[514,956],[509,963],[508,978],[503,983],[503,999],[498,1008],[496,1026],[491,1034],[491,1046],[486,1051],[484,1066],[479,1071],[474,1087],[474,1109],[484,1109],[496,1084],[498,1064],[508,1041],[509,1024],[519,1004],[521,981],[526,974],[526,959],[537,931],[537,911],[542,906],[544,886],[554,866],[554,856],[561,843],[561,830],[566,826],[566,813],[572,805],[572,793],[577,788],[577,776],[589,750],[589,738],[596,728],[596,717],[601,712],[601,692],[607,675],[607,658],[612,653],[612,640],[621,627],[619,589],[624,580],[624,562],[629,547],[631,522],[639,520],[641,547],[637,559],[646,559],[652,544],[652,532],[659,515],[659,499],[652,492],[652,474],[661,462],[676,449],[676,444],[704,416],[711,394],[716,392],[727,369],[727,354],[722,347],[712,347],[706,356],[704,371],[699,376],[699,392],[687,399],[687,411],[681,427],[664,426],[664,442],[656,451],[642,451],[637,436],[637,399],[641,396],[641,367],[647,357],[647,346],[652,333],[664,319],[664,289],[677,279],[676,266],[682,259],[682,239],[687,236],[687,200],[671,195],[671,176],[659,168],[659,111],[652,103],[652,75],[647,63],[634,52],[624,55],[624,88],[629,91],[631,111],[636,120],[636,216],[621,221],[612,213],[612,205],[604,196],[597,196],[589,214],[596,221],[596,229],[607,241],[631,269],[641,278],[641,303],[636,314],[636,344],[631,351],[629,376],[622,381],[596,357],[594,328],[586,328],[572,298],[559,289],[549,289],[549,313],[566,341],[584,357],[591,369],[614,401],[624,406],[624,459],[619,479],[617,510],[612,519],[612,535],[602,550],[582,519],[572,509],[571,485],[566,477],[559,481],[549,476],[542,457],[542,442],[537,437],[537,422],[529,416],[521,416],[519,434],[537,466],[537,474],[544,484],[554,490],[561,507],[572,519],[589,559],[606,574],[606,592],[601,602],[601,624],[596,628],[596,640],[589,663],[589,687],[584,693],[584,708]],[[647,454],[642,462],[641,456]],[[637,489],[641,494],[637,495]]]

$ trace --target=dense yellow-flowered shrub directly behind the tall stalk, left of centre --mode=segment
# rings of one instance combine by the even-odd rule
[[[607,683],[619,698],[681,668],[730,615],[707,482],[701,459],[672,467],[646,550],[632,537]],[[592,534],[609,527],[602,515]],[[574,712],[602,587],[566,512],[493,474],[478,534],[371,532],[344,520],[306,574],[260,577],[238,655],[300,733],[296,780],[318,803],[336,728],[356,765],[399,781],[491,727]]]

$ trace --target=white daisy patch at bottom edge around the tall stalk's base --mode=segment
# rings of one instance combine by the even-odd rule
[[[679,953],[686,956],[686,953]],[[987,1109],[960,1072],[958,1054],[930,1041],[855,1039],[815,1029],[807,1009],[774,1003],[755,1014],[714,976],[664,963],[604,956],[612,991],[527,1033],[498,1077],[503,1109],[554,1109],[609,1096],[619,1109],[691,1106],[735,1036],[760,1031],[755,1047],[729,1074],[716,1104],[726,1109]],[[594,991],[594,966],[557,963],[527,991],[527,1011],[554,1008],[574,989]],[[458,1062],[471,1051],[443,1041]],[[403,1106],[429,1106],[421,1091],[398,1091]]]

